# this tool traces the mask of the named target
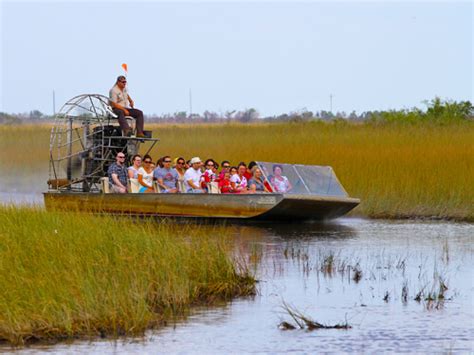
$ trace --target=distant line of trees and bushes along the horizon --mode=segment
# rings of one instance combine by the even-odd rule
[[[388,111],[366,111],[360,114],[329,112],[329,111],[308,111],[302,109],[290,113],[276,116],[261,117],[254,109],[242,111],[226,111],[217,113],[204,111],[202,114],[189,114],[186,111],[168,113],[163,115],[146,115],[147,122],[155,123],[222,123],[222,122],[308,122],[308,121],[335,121],[335,122],[369,122],[376,124],[383,123],[418,123],[434,122],[449,123],[456,121],[474,121],[474,106],[470,101],[441,100],[436,97],[431,101],[425,101],[426,110],[414,107],[411,109],[388,110]],[[47,122],[53,119],[52,116],[45,115],[38,110],[29,113],[8,114],[0,112],[0,124],[21,124],[32,122]]]

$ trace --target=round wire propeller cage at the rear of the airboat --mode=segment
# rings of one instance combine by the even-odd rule
[[[51,130],[49,189],[98,192],[117,153],[130,159],[139,145],[140,140],[122,137],[106,96],[73,97],[55,116]]]

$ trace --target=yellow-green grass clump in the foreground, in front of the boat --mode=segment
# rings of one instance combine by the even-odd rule
[[[191,305],[254,292],[203,229],[13,207],[0,220],[0,340],[13,345],[141,335]]]

